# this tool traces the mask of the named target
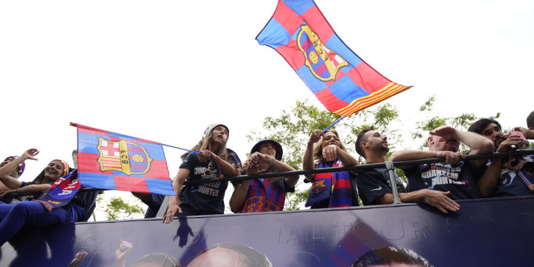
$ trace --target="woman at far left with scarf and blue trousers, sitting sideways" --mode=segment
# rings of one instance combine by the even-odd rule
[[[3,168],[13,168],[26,159],[36,160],[34,156],[38,153],[37,149],[28,149]],[[44,190],[44,193],[33,201],[16,204],[0,202],[0,246],[15,236],[22,227],[47,227],[85,220],[86,209],[95,202],[98,194],[98,191],[79,192],[81,186],[77,172],[66,175],[69,166],[65,161],[51,161],[33,184],[27,186],[13,177],[6,177],[8,171],[2,170],[3,168],[0,168],[0,179],[10,188],[15,188],[14,192],[35,193]]]

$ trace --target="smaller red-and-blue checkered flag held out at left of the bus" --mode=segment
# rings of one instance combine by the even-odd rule
[[[82,186],[176,195],[161,143],[76,124]]]

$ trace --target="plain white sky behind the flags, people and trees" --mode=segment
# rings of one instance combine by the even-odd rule
[[[431,95],[435,115],[501,112],[505,128],[525,126],[534,110],[534,1],[316,4],[369,65],[414,86],[387,100],[403,120]],[[282,56],[254,40],[276,5],[0,1],[1,157],[40,149],[22,177],[31,180],[51,159],[72,163],[69,122],[185,148],[220,122],[244,161],[245,136],[265,117],[297,99],[321,105]],[[174,176],[182,152],[165,153]]]

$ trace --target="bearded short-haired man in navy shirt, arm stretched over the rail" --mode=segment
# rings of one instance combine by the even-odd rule
[[[387,136],[382,136],[378,131],[364,129],[358,133],[356,140],[356,152],[369,163],[385,163],[386,154],[389,152]],[[406,193],[401,179],[395,175],[397,191],[402,202],[421,202],[436,207],[440,211],[458,211],[460,205],[448,198],[448,193],[423,189]],[[359,171],[356,179],[359,197],[364,205],[392,204],[391,180],[386,168],[364,169]]]

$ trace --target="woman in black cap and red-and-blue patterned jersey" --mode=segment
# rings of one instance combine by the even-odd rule
[[[273,140],[260,140],[245,162],[247,175],[257,175],[264,172],[289,172],[290,165],[280,161],[282,146]],[[234,213],[282,211],[286,192],[294,192],[298,175],[289,177],[255,178],[243,180],[232,194],[230,209]]]

